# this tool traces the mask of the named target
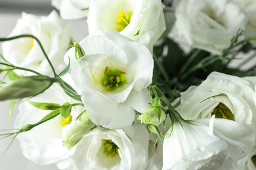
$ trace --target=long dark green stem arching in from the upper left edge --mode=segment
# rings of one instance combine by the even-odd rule
[[[24,34],[24,35],[18,35],[18,36],[14,36],[14,37],[9,37],[9,38],[0,38],[0,42],[1,41],[11,41],[11,40],[14,40],[14,39],[20,39],[20,38],[32,38],[32,39],[35,39],[35,41],[37,41],[37,43],[39,44],[45,58],[47,59],[52,71],[53,71],[53,74],[54,76],[58,76],[54,70],[54,67],[53,67],[53,64],[51,63],[49,57],[47,56],[46,52],[45,52],[45,49],[43,48],[43,45],[41,44],[41,42],[39,41],[39,39],[37,39],[37,37],[33,36],[33,35],[29,35],[29,34]]]

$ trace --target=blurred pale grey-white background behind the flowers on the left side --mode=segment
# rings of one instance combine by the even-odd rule
[[[0,37],[7,37],[16,24],[16,20],[21,17],[22,12],[35,15],[45,15],[51,13],[54,7],[51,0],[0,0]],[[72,25],[72,36],[76,41],[81,41],[88,34],[87,22],[83,20],[66,20],[66,24]],[[1,52],[1,43],[0,43]],[[3,78],[3,75],[0,75]],[[9,122],[9,102],[0,101],[0,130],[10,129],[13,126],[17,108],[14,109],[12,120]],[[3,131],[0,131],[0,134]],[[11,147],[3,153],[11,142],[11,138],[0,140],[0,169],[1,170],[55,170],[55,165],[41,166],[26,160],[22,156],[17,140],[14,140]],[[3,153],[3,154],[2,154]]]

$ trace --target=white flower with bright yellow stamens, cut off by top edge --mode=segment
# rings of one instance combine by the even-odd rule
[[[160,0],[93,0],[87,22],[89,34],[114,30],[150,50],[165,30]]]

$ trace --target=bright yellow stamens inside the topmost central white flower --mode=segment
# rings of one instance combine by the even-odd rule
[[[116,18],[116,23],[118,27],[117,31],[122,31],[128,24],[130,24],[132,14],[133,12],[118,12],[118,16]]]

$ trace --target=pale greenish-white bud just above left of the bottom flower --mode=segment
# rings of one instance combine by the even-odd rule
[[[82,139],[83,135],[87,134],[94,126],[95,124],[91,122],[87,112],[83,112],[76,124],[68,129],[62,143],[71,150]]]

